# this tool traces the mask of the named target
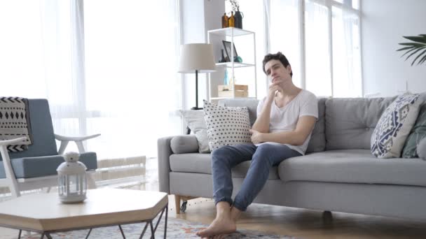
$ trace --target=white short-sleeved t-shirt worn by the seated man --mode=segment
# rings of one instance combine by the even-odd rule
[[[266,97],[263,98],[262,101],[259,101],[257,105],[257,115],[259,116],[263,105],[265,104]],[[299,117],[310,115],[318,119],[318,101],[317,96],[308,92],[305,89],[302,89],[299,94],[294,97],[286,106],[282,108],[278,108],[273,101],[270,106],[270,122],[269,122],[269,132],[282,132],[282,131],[291,131],[296,129],[296,124]],[[292,150],[296,150],[301,154],[305,154],[306,148],[308,148],[308,143],[310,140],[310,135],[312,131],[309,133],[308,138],[306,138],[303,145],[287,145]],[[274,143],[274,142],[266,142],[266,143]],[[261,145],[262,143],[256,144],[256,146]]]

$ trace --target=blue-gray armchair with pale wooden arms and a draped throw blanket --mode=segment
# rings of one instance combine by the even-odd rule
[[[52,118],[46,99],[29,99],[29,116],[32,125],[33,144],[23,152],[8,152],[7,145],[18,143],[25,138],[0,140],[0,186],[11,189],[13,197],[20,191],[53,187],[57,185],[56,168],[64,159],[69,141],[74,141],[80,152],[80,161],[88,168],[88,187],[95,187],[92,173],[97,168],[95,152],[85,152],[83,140],[95,138],[100,134],[83,137],[59,136],[53,133]],[[61,141],[57,151],[55,139]]]

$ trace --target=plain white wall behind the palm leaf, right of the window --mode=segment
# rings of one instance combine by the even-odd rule
[[[397,52],[402,36],[426,34],[425,0],[362,0],[362,68],[365,94],[426,92],[426,64],[411,66]]]

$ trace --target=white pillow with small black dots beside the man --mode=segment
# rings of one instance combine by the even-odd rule
[[[224,145],[252,143],[247,107],[224,107],[204,101],[204,119],[211,151]]]

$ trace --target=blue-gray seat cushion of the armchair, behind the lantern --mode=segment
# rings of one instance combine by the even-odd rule
[[[95,152],[85,152],[80,154],[80,159],[88,170],[97,168]],[[64,162],[61,155],[25,157],[11,159],[13,171],[16,178],[36,178],[50,175],[57,175],[56,168]],[[0,178],[6,178],[3,161],[0,161]]]

